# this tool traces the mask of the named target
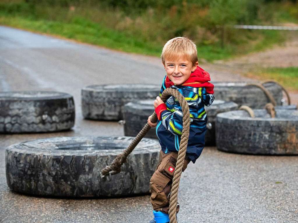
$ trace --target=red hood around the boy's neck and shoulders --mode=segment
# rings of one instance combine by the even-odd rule
[[[181,85],[190,87],[204,87],[208,94],[213,94],[214,85],[208,81],[210,81],[210,74],[201,67],[197,66],[197,69],[195,69],[194,72],[191,72],[190,77]],[[175,85],[168,77],[166,77],[165,84],[167,88]]]

